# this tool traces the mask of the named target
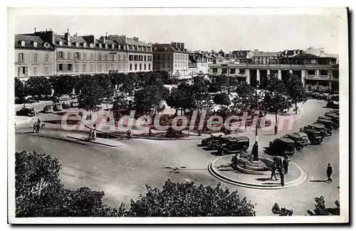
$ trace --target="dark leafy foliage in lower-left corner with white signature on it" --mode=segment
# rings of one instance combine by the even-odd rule
[[[16,217],[123,215],[123,205],[119,210],[103,205],[104,192],[86,187],[64,188],[59,179],[60,170],[61,165],[51,155],[25,150],[15,153]]]

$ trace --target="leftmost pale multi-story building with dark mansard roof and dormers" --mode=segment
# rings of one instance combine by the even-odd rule
[[[36,35],[15,36],[15,77],[53,76],[54,47]]]

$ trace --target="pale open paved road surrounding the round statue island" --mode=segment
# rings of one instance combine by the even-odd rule
[[[321,101],[308,101],[303,114],[295,122],[293,130],[310,123],[326,111]],[[321,111],[318,111],[319,108]],[[70,188],[88,186],[93,190],[105,191],[105,203],[119,206],[129,204],[131,198],[145,193],[145,185],[161,187],[164,180],[184,182],[192,180],[204,185],[219,182],[206,170],[211,160],[216,158],[197,146],[199,140],[122,140],[117,148],[109,148],[66,138],[59,130],[43,129],[39,134],[26,133],[30,128],[22,128],[16,133],[16,150],[36,150],[58,158],[62,163],[61,178]],[[288,130],[282,133],[290,132]],[[267,145],[274,135],[261,135],[260,145]],[[327,205],[339,199],[338,177],[338,132],[325,138],[323,145],[308,146],[291,157],[308,173],[308,180],[295,188],[284,190],[254,190],[234,185],[222,185],[257,203],[257,215],[271,215],[274,202],[294,210],[295,215],[305,215],[313,209],[315,196],[324,195]],[[333,183],[310,182],[325,180],[327,163],[334,167]],[[170,168],[167,168],[170,167]],[[172,171],[171,168],[185,167]]]

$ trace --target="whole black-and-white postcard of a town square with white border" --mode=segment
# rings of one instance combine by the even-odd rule
[[[346,8],[8,16],[10,223],[349,222]]]

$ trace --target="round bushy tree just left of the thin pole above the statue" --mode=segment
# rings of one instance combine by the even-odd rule
[[[241,83],[236,86],[237,95],[232,100],[235,111],[239,111],[240,113],[250,112],[258,109],[256,90],[252,86],[247,83]]]

